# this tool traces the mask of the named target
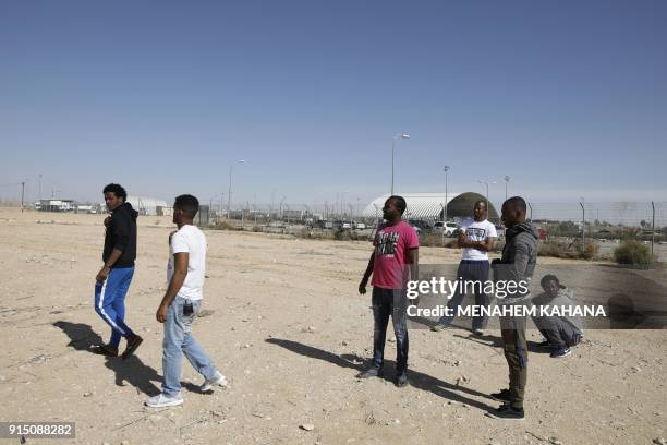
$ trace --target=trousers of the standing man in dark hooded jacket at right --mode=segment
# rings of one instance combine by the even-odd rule
[[[527,345],[524,317],[500,317],[500,335],[505,359],[509,366],[510,405],[523,408],[523,396],[527,381]]]

